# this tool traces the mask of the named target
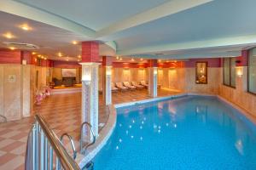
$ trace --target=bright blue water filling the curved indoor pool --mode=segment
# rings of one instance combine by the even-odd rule
[[[122,107],[96,170],[256,169],[255,126],[214,97]]]

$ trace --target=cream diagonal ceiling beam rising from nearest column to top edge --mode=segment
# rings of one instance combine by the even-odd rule
[[[96,32],[96,37],[109,36],[118,31],[124,31],[134,26],[140,26],[147,22],[158,20],[171,14],[177,14],[183,10],[212,2],[213,0],[171,0],[155,8],[148,9],[143,13],[131,16],[125,20],[114,23]]]

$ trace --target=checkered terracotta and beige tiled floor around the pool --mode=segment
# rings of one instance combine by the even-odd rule
[[[170,90],[159,90],[159,96],[177,94]],[[113,93],[113,104],[149,99],[146,89]],[[49,126],[60,137],[69,133],[79,147],[79,127],[81,124],[81,93],[55,94],[44,99],[35,107],[35,113],[44,116]],[[108,111],[99,95],[99,123],[107,122]],[[15,122],[0,124],[0,170],[24,169],[27,134],[32,126],[33,116]],[[100,127],[101,128],[101,127]]]

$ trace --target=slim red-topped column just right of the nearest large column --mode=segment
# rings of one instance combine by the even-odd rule
[[[112,58],[102,57],[102,93],[105,105],[112,104],[111,93]]]

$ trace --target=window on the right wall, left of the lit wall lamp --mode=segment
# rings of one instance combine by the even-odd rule
[[[236,88],[236,58],[224,58],[223,65],[224,85]]]

